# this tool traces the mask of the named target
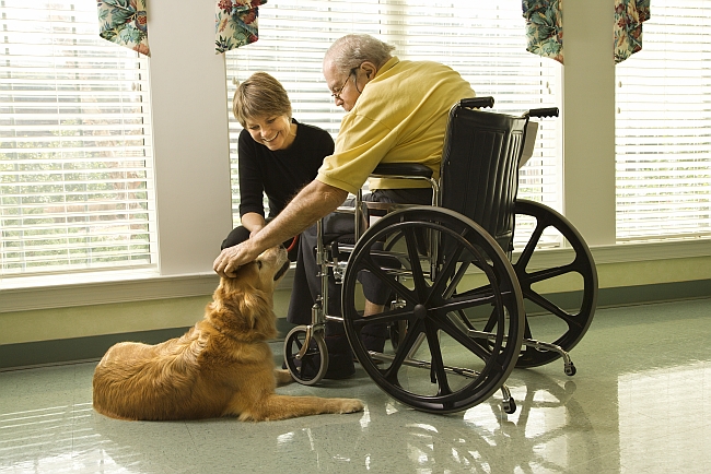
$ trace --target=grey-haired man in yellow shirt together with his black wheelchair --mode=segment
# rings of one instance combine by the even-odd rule
[[[594,263],[562,216],[515,199],[528,114],[478,110],[493,100],[475,99],[456,71],[400,60],[393,49],[369,35],[345,36],[328,49],[324,76],[348,112],[335,153],[271,223],[224,249],[214,270],[230,276],[303,232],[304,266],[288,315],[299,325],[284,341],[298,381],[350,377],[356,356],[378,387],[417,410],[461,411],[501,390],[512,413],[504,382],[515,366],[563,357],[574,372],[567,351],[592,320]],[[531,112],[544,115],[557,111]],[[346,202],[349,193],[356,198]],[[536,223],[512,264],[516,214]],[[580,258],[531,271],[531,253],[549,227]],[[582,275],[580,308],[561,309],[532,289],[551,270]],[[553,343],[532,337],[524,299],[567,324]]]

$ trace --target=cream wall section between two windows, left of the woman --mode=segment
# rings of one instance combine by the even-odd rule
[[[214,1],[148,2],[160,269],[211,272],[232,228],[224,57]]]

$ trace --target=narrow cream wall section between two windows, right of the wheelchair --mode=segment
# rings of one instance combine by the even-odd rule
[[[563,214],[588,246],[614,245],[613,2],[573,0],[563,10]]]

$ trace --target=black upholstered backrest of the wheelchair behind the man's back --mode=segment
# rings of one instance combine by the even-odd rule
[[[442,154],[441,203],[513,250],[518,159],[527,117],[470,109],[450,111]]]

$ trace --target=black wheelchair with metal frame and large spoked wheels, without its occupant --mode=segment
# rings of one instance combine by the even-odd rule
[[[456,145],[456,138],[450,137],[450,131],[463,110],[477,117],[483,114],[477,119],[483,122],[503,117],[510,122],[509,129],[517,128],[520,137],[506,135],[499,156],[494,156],[496,161],[515,162],[515,169],[502,174],[504,183],[506,179],[516,179],[512,181],[513,192],[502,191],[511,194],[509,206],[514,206],[511,211],[536,221],[517,260],[512,263],[515,215],[503,224],[499,215],[489,216],[491,222],[480,225],[476,220],[442,206],[442,177],[440,180],[432,178],[430,168],[411,164],[380,165],[372,176],[428,180],[433,190],[432,206],[387,204],[396,210],[364,232],[370,210],[383,208],[383,204],[364,203],[359,190],[354,208],[338,209],[338,212],[354,215],[354,245],[325,245],[324,221],[317,222],[316,262],[320,269],[322,294],[312,308],[312,323],[292,329],[284,341],[284,362],[296,381],[315,384],[326,374],[326,321],[345,324],[351,349],[378,387],[396,400],[426,412],[466,410],[501,390],[504,412],[514,413],[515,401],[505,386],[514,367],[536,367],[562,358],[564,372],[575,374],[568,352],[590,327],[597,299],[597,273],[592,254],[578,230],[562,215],[544,204],[515,199],[517,163],[528,119],[558,116],[558,109],[534,109],[516,118],[473,110],[492,106],[493,98],[482,97],[464,99],[452,107],[443,167],[451,152],[448,147]],[[510,156],[504,156],[506,154]],[[363,204],[369,206],[364,209]],[[573,249],[573,261],[528,271],[539,239],[551,227]],[[348,261],[340,260],[339,253],[348,253]],[[325,310],[329,271],[342,285],[341,317],[329,316]],[[395,293],[395,299],[383,313],[363,317],[358,308],[359,272],[380,277]],[[534,287],[571,273],[583,280],[581,303],[573,311],[541,296]],[[409,282],[409,286],[401,282]],[[524,301],[553,317],[549,318],[555,323],[552,343],[533,337],[536,324],[532,323],[532,318],[526,318]],[[493,308],[490,312],[489,307]],[[360,328],[373,321],[391,324],[395,354],[369,352],[362,345]],[[548,329],[545,332],[551,334]],[[423,342],[427,342],[424,349],[421,348]],[[452,344],[462,345],[465,354],[468,351],[477,357],[455,365],[462,363],[462,351],[451,351]],[[429,360],[420,355],[422,352],[427,355],[428,349]],[[308,375],[304,367],[310,368]],[[427,379],[416,380],[417,370],[426,375],[429,371],[430,387]]]

